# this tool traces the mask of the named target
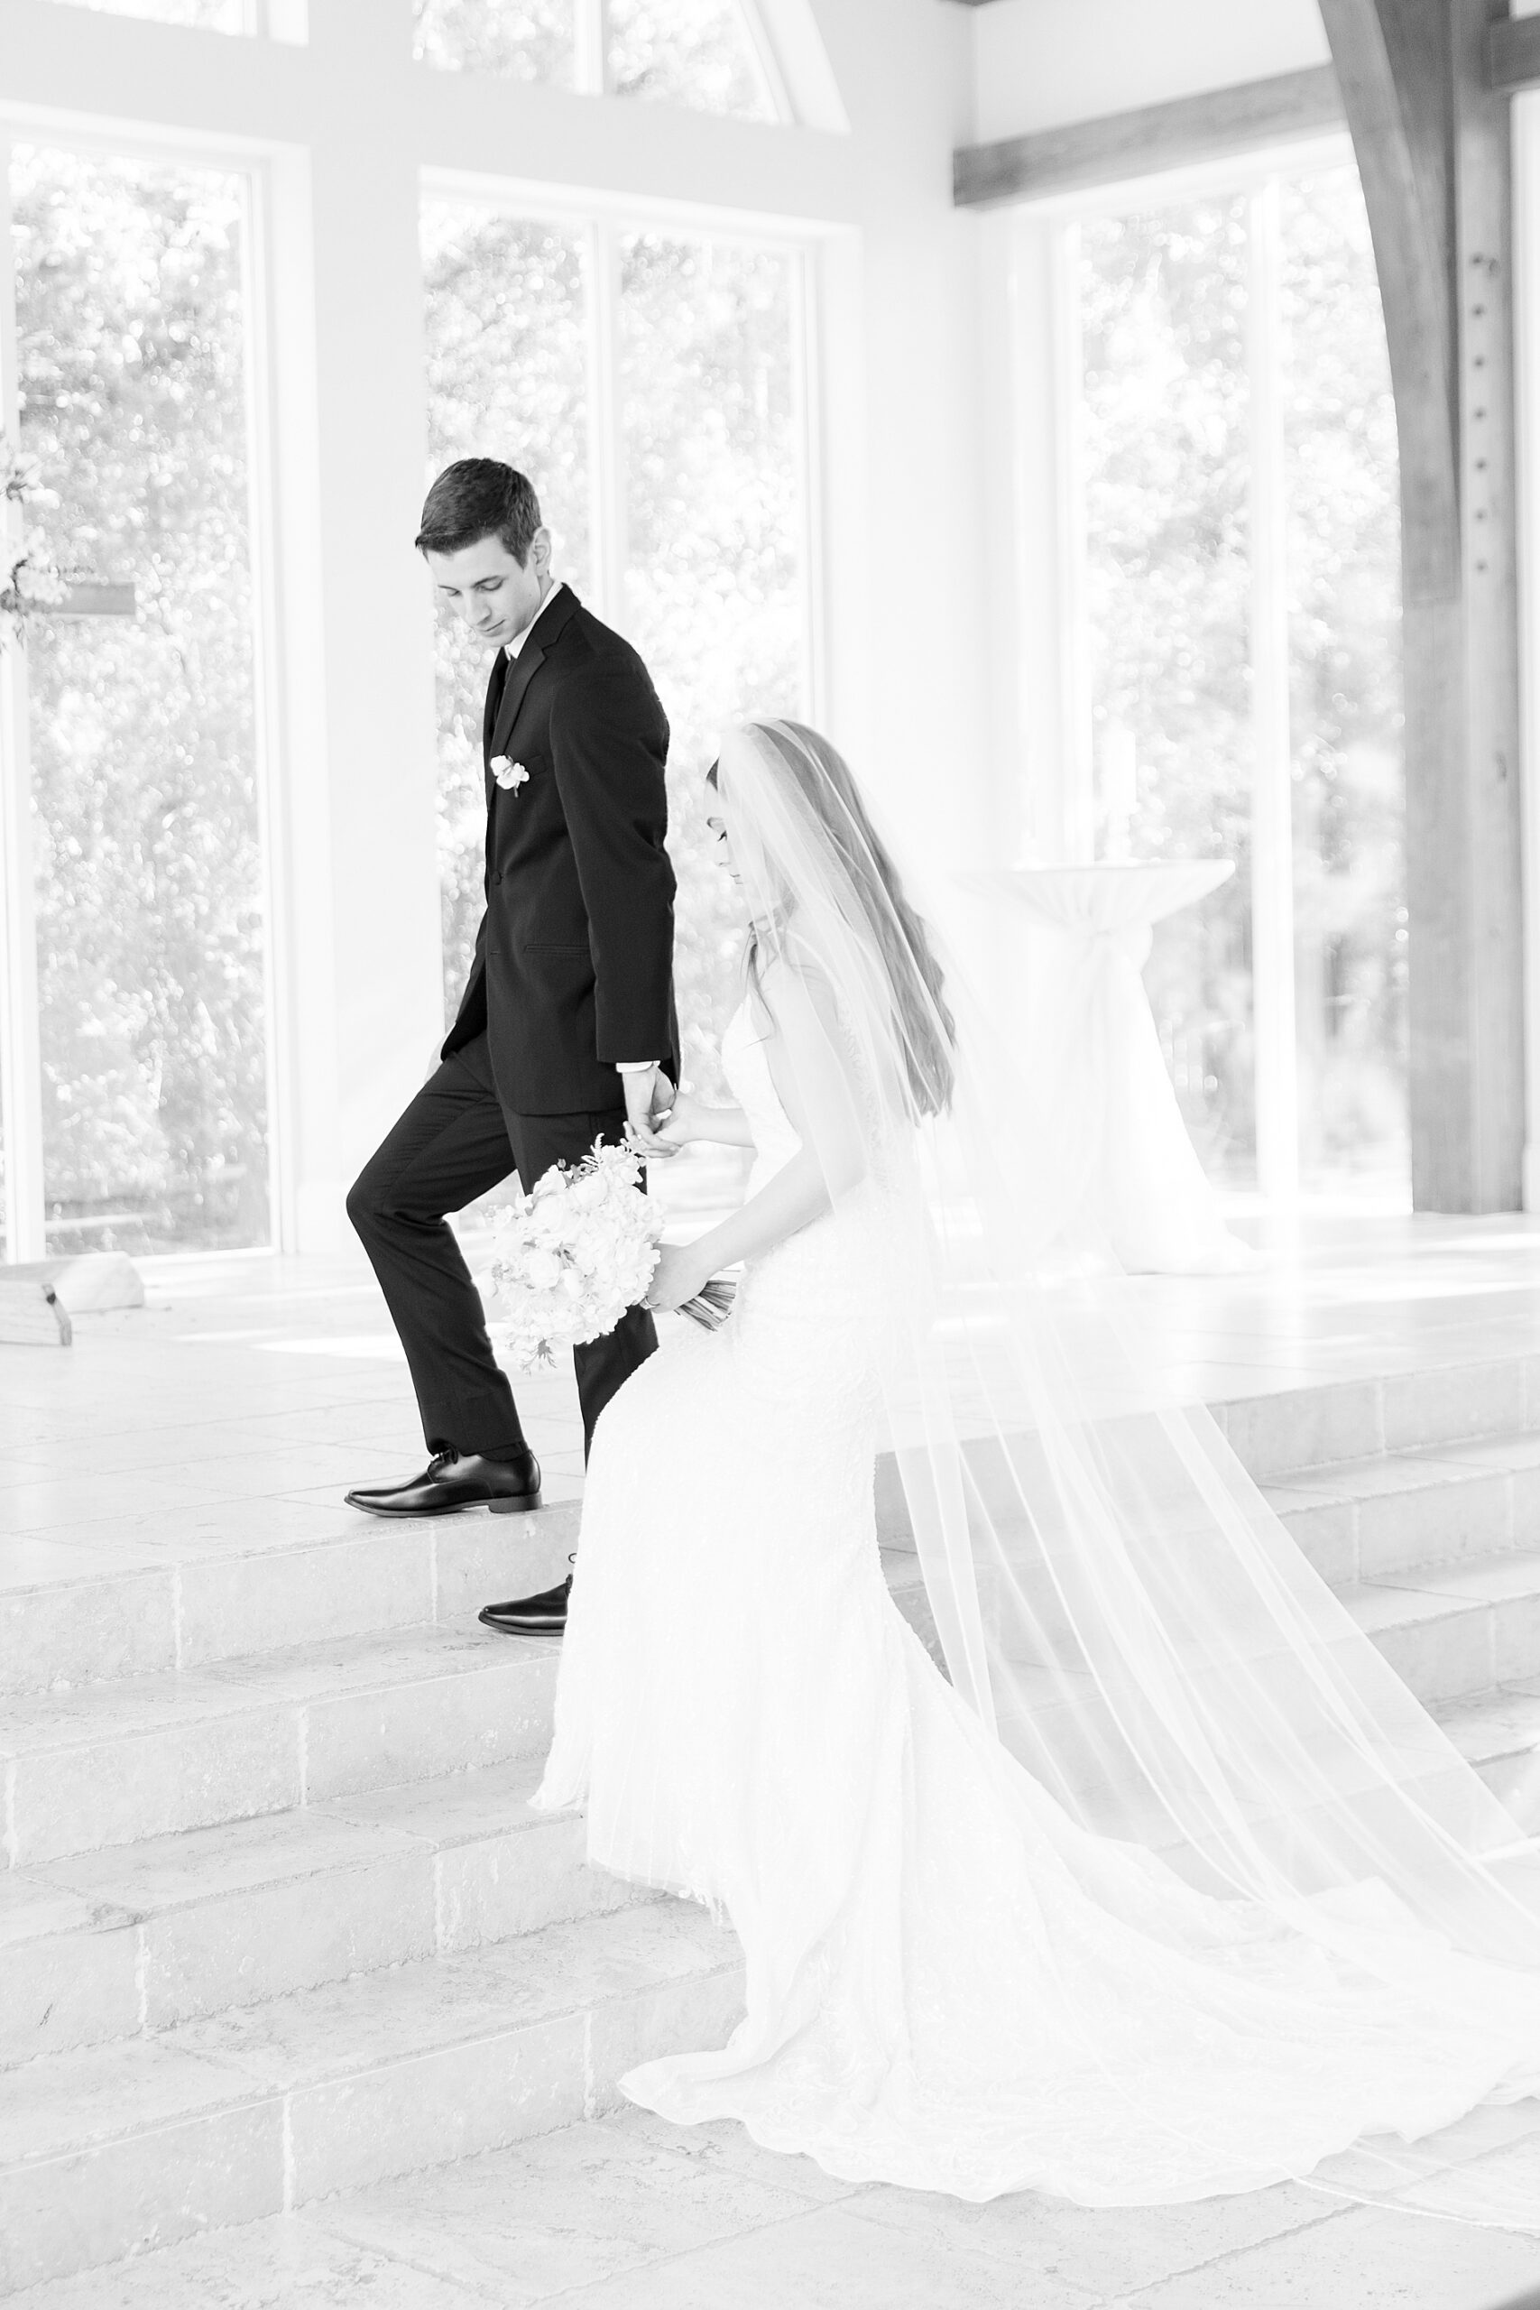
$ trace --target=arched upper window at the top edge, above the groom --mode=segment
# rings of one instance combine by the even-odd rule
[[[778,120],[753,0],[416,0],[416,55],[586,95]]]

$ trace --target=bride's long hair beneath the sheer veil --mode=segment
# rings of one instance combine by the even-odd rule
[[[833,850],[850,894],[877,942],[894,991],[914,1106],[921,1116],[942,1113],[951,1104],[956,1051],[956,1021],[947,1005],[942,966],[930,947],[930,933],[910,906],[903,878],[870,822],[850,762],[806,723],[748,721],[741,723],[741,730],[757,737],[773,755],[776,772],[785,772],[797,785],[817,832]],[[713,762],[707,772],[711,785],[720,785],[718,767]],[[785,926],[794,912],[797,894],[787,887],[785,903],[776,908],[776,915]],[[755,924],[748,945],[750,984],[757,984],[762,938],[764,926]]]

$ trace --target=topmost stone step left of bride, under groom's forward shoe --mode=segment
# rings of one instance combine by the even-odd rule
[[[14,1538],[0,1564],[0,1696],[466,1624],[483,1603],[561,1578],[577,1518],[575,1495],[533,1515],[404,1525],[339,1508],[335,1529],[323,1520],[319,1536],[279,1545],[282,1504],[259,1502],[210,1508],[175,1541],[152,1527],[97,1545]],[[314,1532],[314,1515],[302,1522]]]

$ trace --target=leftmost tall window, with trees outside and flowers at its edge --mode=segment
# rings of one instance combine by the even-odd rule
[[[58,561],[106,587],[69,608],[120,612],[39,614],[25,656],[46,1240],[259,1245],[245,185],[44,146],[9,171],[21,444]]]

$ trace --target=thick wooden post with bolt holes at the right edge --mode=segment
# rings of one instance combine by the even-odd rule
[[[1517,1210],[1519,633],[1505,0],[1321,0],[1374,231],[1401,446],[1411,1162]]]

